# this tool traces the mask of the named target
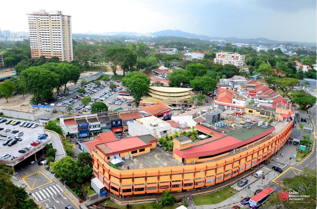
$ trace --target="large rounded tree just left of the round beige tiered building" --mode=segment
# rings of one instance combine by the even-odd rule
[[[121,82],[132,93],[136,102],[139,102],[141,97],[149,90],[151,79],[144,73],[132,72],[127,74]]]

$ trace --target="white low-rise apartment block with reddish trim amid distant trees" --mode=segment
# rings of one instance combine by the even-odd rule
[[[239,54],[238,52],[217,52],[216,58],[214,58],[214,63],[219,63],[222,65],[231,64],[236,66],[239,69],[242,69],[244,65],[245,56]]]

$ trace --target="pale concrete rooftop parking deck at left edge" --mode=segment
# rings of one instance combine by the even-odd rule
[[[8,119],[7,120],[13,120],[13,119]],[[23,120],[17,120],[17,121],[21,121],[23,122]],[[37,140],[37,136],[44,133],[44,129],[43,127],[36,127],[36,128],[27,128],[27,127],[21,127],[20,124],[17,124],[15,126],[10,125],[10,124],[5,124],[5,122],[0,123],[0,127],[5,129],[11,129],[11,131],[13,130],[17,130],[20,132],[23,132],[24,134],[20,136],[20,138],[22,139],[21,141],[17,141],[16,144],[13,144],[12,146],[8,146],[8,145],[3,145],[3,142],[5,142],[8,137],[12,137],[14,138],[15,134],[10,133],[11,131],[8,132],[4,132],[3,130],[0,131],[0,156],[3,154],[10,154],[11,156],[8,157],[7,159],[10,160],[13,156],[15,157],[19,157],[21,155],[23,155],[24,153],[20,153],[18,152],[20,149],[23,149],[24,147],[30,147],[30,150],[32,150],[35,146],[31,146],[30,143],[32,143],[32,141],[36,141]],[[16,133],[16,134],[18,134]],[[47,137],[47,139],[49,139],[49,136]],[[46,141],[47,139],[42,139],[42,141]],[[28,152],[26,152],[28,153]]]

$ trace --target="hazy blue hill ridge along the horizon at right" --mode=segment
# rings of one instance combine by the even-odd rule
[[[291,43],[291,44],[298,44],[301,46],[316,46],[316,43],[307,43],[307,42],[297,42],[297,41],[277,41],[277,40],[270,40],[265,38],[256,38],[256,39],[239,39],[236,37],[210,37],[205,35],[197,35],[194,33],[187,33],[181,30],[162,30],[155,33],[152,33],[153,36],[178,36],[184,38],[191,38],[191,39],[204,39],[204,40],[226,40],[229,42],[239,42],[239,43],[246,43],[246,44],[263,44],[263,45],[272,45],[272,44],[284,44],[284,43]]]

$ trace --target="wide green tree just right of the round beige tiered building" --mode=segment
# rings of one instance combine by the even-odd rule
[[[213,92],[217,86],[216,79],[207,76],[196,76],[190,83],[193,88],[199,89],[203,93]]]

